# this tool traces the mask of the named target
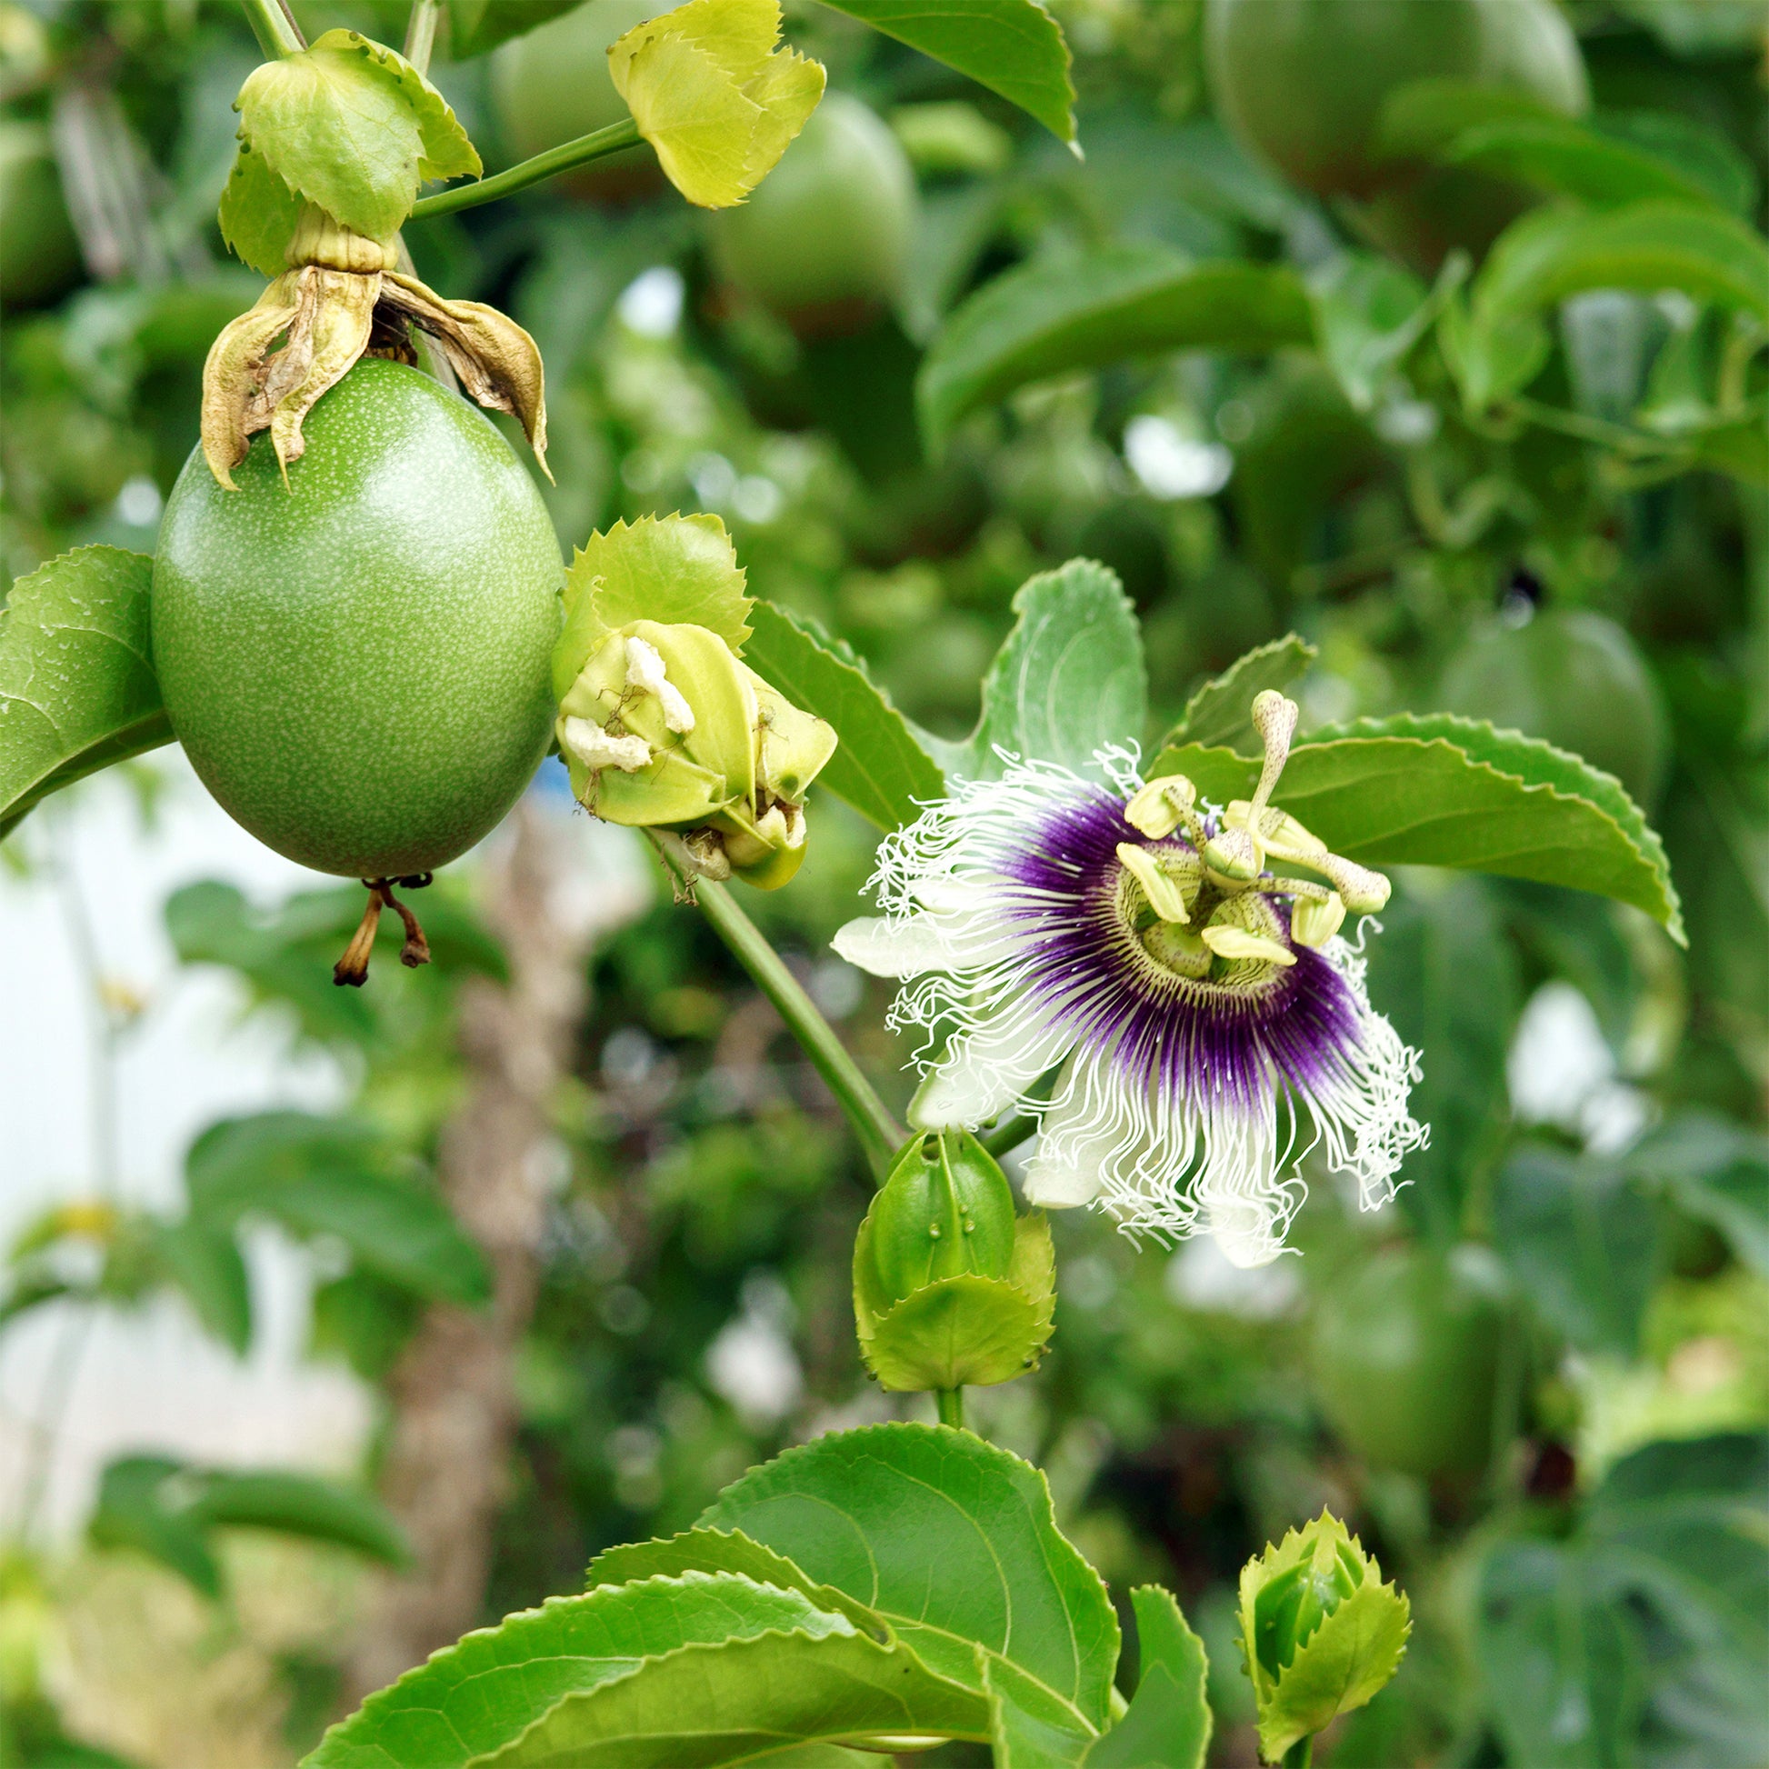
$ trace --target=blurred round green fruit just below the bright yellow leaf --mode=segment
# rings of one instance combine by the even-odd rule
[[[858,333],[897,297],[915,214],[902,143],[828,92],[755,195],[711,218],[713,262],[801,338]]]

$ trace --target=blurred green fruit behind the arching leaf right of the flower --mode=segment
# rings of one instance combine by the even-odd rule
[[[1635,642],[1601,614],[1546,609],[1525,626],[1484,623],[1445,667],[1438,701],[1583,755],[1647,808],[1658,798],[1665,706]]]

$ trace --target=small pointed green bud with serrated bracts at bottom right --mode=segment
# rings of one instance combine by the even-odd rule
[[[1260,1753],[1279,1762],[1394,1675],[1412,1612],[1382,1567],[1329,1512],[1291,1530],[1240,1574],[1240,1645],[1252,1679]]]

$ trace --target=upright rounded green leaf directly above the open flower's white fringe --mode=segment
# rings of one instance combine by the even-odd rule
[[[1097,775],[1095,750],[1136,741],[1148,716],[1143,632],[1118,573],[1070,559],[1026,578],[1014,614],[984,676],[976,729],[943,747],[946,771],[994,778],[1005,750]]]

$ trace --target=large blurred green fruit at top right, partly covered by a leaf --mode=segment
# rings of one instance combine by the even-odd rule
[[[1564,115],[1589,104],[1578,42],[1551,0],[1208,0],[1217,110],[1251,152],[1350,212],[1421,267],[1482,251],[1532,200],[1474,172],[1380,152],[1383,103],[1417,80],[1516,92]]]

